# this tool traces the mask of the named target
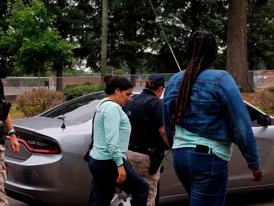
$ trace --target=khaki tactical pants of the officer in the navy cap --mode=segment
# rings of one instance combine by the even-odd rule
[[[149,184],[147,205],[154,206],[157,193],[157,183],[160,178],[160,167],[156,174],[148,172],[150,167],[149,156],[138,152],[132,152],[131,150],[128,150],[126,153],[126,161],[128,161],[135,172],[137,172]]]

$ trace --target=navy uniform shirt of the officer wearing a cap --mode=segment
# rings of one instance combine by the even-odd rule
[[[125,113],[131,112],[131,134],[129,144],[139,148],[164,150],[166,144],[159,132],[163,123],[162,100],[153,91],[144,89],[142,93],[133,95],[122,107]]]

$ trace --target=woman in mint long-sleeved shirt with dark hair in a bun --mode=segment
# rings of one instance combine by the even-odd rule
[[[96,107],[94,144],[88,166],[93,177],[93,196],[89,205],[110,205],[115,187],[132,194],[131,205],[146,205],[149,185],[126,161],[131,132],[122,106],[130,100],[133,86],[123,77],[107,75],[108,97]]]

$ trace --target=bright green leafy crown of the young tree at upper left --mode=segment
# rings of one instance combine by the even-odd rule
[[[37,72],[39,77],[46,63],[70,59],[72,45],[51,26],[54,17],[47,15],[42,1],[31,0],[26,5],[21,0],[8,1],[7,5],[9,28],[6,34],[1,32],[0,45],[13,55],[16,70]]]

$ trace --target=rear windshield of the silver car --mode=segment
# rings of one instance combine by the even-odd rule
[[[64,114],[65,120],[87,122],[93,118],[96,106],[104,97],[107,97],[107,94],[102,92],[75,99],[65,104],[64,107],[47,114],[45,117],[63,119]]]

